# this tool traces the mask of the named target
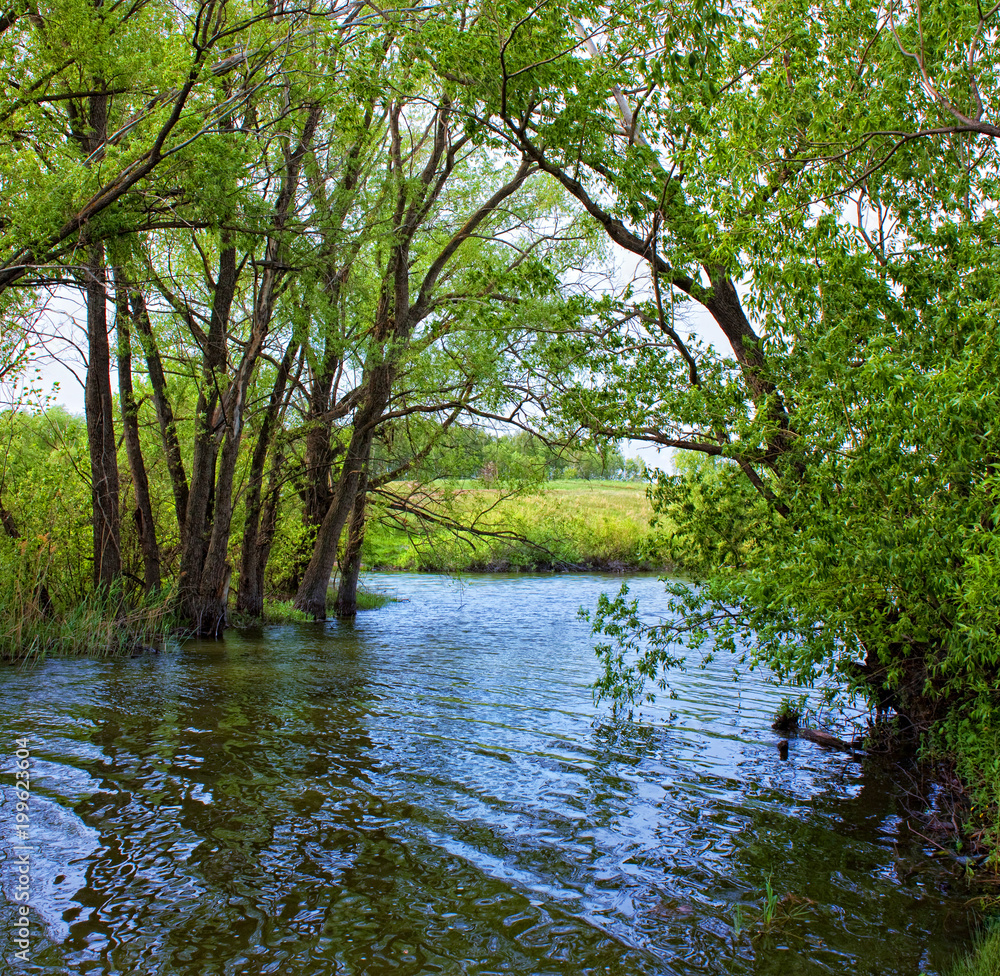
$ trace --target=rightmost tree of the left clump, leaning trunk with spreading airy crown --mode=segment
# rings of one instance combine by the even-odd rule
[[[348,303],[345,322],[356,382],[342,401],[351,415],[336,465],[330,463],[328,434],[318,425],[313,431],[320,433],[320,449],[307,451],[307,462],[323,459],[307,463],[321,476],[307,503],[322,498],[325,507],[296,605],[316,616],[325,615],[338,546],[352,513],[356,531],[349,563],[350,553],[357,552],[364,486],[380,428],[413,411],[437,414],[448,424],[447,418],[469,408],[491,384],[495,392],[504,373],[503,351],[529,327],[532,312],[525,309],[537,310],[543,295],[558,294],[558,271],[585,236],[577,229],[567,233],[563,196],[553,184],[535,190],[537,167],[530,160],[498,160],[466,131],[467,116],[447,73],[428,70],[424,39],[441,32],[461,43],[468,29],[465,18],[454,10],[450,14],[453,19],[432,18],[384,49],[387,64],[394,66],[386,76],[389,96],[369,103],[359,128],[370,141],[373,120],[379,120],[385,133],[381,155],[369,157],[361,178],[362,156],[349,154],[329,184],[334,192],[326,226],[332,233],[325,246],[338,274],[336,288],[326,276],[324,297],[337,295]],[[352,219],[370,231],[362,246],[355,238],[336,247],[347,191],[360,204]],[[359,218],[358,211],[365,215]],[[583,249],[589,246],[588,241]],[[560,248],[567,254],[560,256]],[[488,356],[487,342],[463,344],[462,336],[476,329],[496,337]],[[337,347],[343,350],[347,342],[341,334]],[[479,361],[477,350],[484,353]],[[428,368],[435,357],[441,365]],[[456,358],[460,369],[444,365]],[[337,367],[344,362],[338,356]],[[329,364],[325,368],[319,375],[329,377]],[[410,385],[421,372],[421,383]],[[402,378],[408,383],[401,388]],[[328,395],[325,386],[321,405],[328,404]],[[310,411],[317,417],[315,405]],[[332,413],[327,406],[326,416]],[[352,577],[356,581],[356,569],[346,578]],[[341,594],[342,607],[353,603],[350,589]]]

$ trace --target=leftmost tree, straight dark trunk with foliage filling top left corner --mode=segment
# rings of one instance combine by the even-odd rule
[[[0,293],[72,280],[85,295],[102,587],[121,571],[105,242],[192,220],[179,211],[196,195],[194,147],[232,129],[227,120],[279,70],[307,13],[80,0],[16,4],[0,20]]]

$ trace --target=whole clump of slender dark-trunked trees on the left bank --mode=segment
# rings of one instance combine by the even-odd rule
[[[161,36],[175,14],[185,32]],[[535,167],[483,151],[427,70],[425,29],[460,34],[461,11],[175,14],[5,15],[0,300],[86,299],[94,585],[173,580],[192,631],[217,635],[237,556],[238,603],[260,611],[288,484],[316,535],[300,582],[325,604],[368,491],[462,411],[501,408],[507,351],[561,308],[558,270],[589,244],[554,184],[515,205]],[[370,470],[376,443],[388,470]]]

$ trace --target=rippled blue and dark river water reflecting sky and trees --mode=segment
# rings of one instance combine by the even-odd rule
[[[356,624],[0,672],[8,898],[18,736],[35,776],[26,971],[946,971],[969,892],[889,770],[782,762],[780,692],[728,661],[641,725],[595,709],[576,610],[618,582],[389,576],[406,602]]]

